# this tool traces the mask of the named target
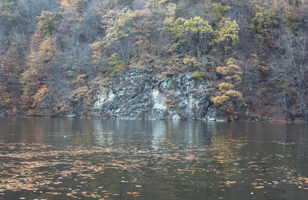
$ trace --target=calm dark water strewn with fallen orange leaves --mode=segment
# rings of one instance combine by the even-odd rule
[[[308,199],[307,124],[0,118],[0,199]]]

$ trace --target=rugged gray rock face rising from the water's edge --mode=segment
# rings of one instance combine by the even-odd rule
[[[211,106],[210,87],[208,79],[191,78],[189,73],[160,79],[129,71],[95,91],[93,113],[123,119],[217,119],[220,113]],[[215,116],[209,116],[212,113]]]

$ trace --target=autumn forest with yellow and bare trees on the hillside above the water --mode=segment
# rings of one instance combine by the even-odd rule
[[[146,68],[209,79],[230,119],[308,120],[307,0],[59,1],[0,0],[0,113],[91,117],[95,91]]]

